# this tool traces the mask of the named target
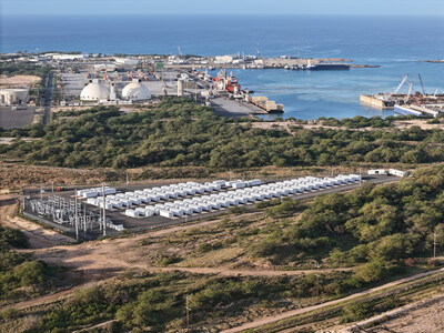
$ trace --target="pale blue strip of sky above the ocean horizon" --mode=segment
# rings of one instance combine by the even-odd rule
[[[10,14],[393,14],[444,16],[444,0],[1,0]]]

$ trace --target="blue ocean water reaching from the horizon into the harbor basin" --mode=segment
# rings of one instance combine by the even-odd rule
[[[393,91],[410,74],[414,90],[444,90],[441,17],[63,16],[2,17],[0,51],[82,51],[346,58],[380,68],[350,71],[233,70],[243,88],[285,104],[284,118],[389,115],[361,105],[362,93]],[[402,91],[407,91],[407,85]]]

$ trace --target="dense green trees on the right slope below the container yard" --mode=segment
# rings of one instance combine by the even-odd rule
[[[256,256],[315,255],[332,265],[365,263],[356,276],[379,280],[386,263],[414,264],[430,255],[433,233],[444,241],[444,167],[423,168],[396,184],[364,184],[349,193],[321,195],[299,223],[275,230]]]

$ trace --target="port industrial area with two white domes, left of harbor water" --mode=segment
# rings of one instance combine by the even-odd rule
[[[226,70],[212,77],[208,70],[165,70],[161,62],[124,70],[117,62],[82,64],[77,70],[70,67],[61,72],[58,89],[62,107],[143,104],[163,95],[178,95],[204,105],[213,105],[214,101],[221,114],[230,114],[226,110],[240,110],[240,114],[284,111],[283,104],[266,97],[252,98],[254,92],[242,89],[238,78]]]

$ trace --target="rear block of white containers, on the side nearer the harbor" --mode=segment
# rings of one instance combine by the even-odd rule
[[[176,199],[178,196],[194,195],[196,193],[202,194],[204,192],[220,191],[224,185],[238,189],[239,186],[245,188],[259,184],[261,184],[261,180],[232,182],[220,180],[206,182],[204,184],[196,182],[179,183],[160,188],[143,189],[134,192],[119,193],[115,195],[108,195],[105,198],[105,208],[129,208],[131,205],[158,202],[160,200]],[[103,208],[103,198],[89,198],[87,202],[89,204]]]

